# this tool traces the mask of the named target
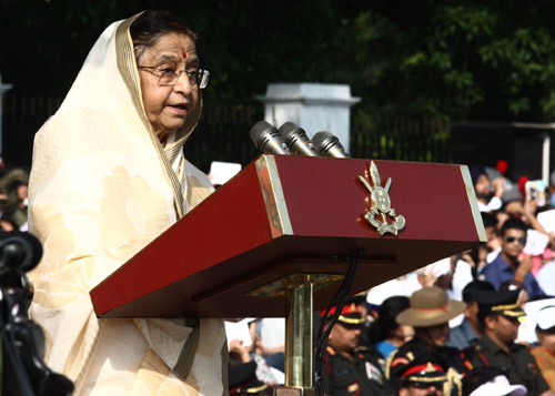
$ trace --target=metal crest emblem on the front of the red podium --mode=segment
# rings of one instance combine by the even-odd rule
[[[389,194],[391,177],[387,179],[385,186],[382,187],[380,173],[377,172],[374,161],[370,162],[370,177],[372,179],[372,184],[374,185],[373,187],[365,177],[359,176],[359,181],[366,187],[366,190],[369,190],[372,197],[372,206],[370,207],[370,211],[366,212],[364,217],[377,230],[380,236],[387,232],[397,235],[397,231],[403,230],[405,226],[405,217],[402,214],[395,214],[395,210],[391,207]],[[392,219],[393,221],[390,223],[387,221],[389,219]]]

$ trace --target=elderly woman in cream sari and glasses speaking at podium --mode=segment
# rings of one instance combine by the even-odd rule
[[[36,136],[30,231],[44,255],[30,314],[75,394],[226,392],[222,321],[99,319],[89,297],[212,192],[182,151],[209,78],[195,40],[164,11],[113,23]]]

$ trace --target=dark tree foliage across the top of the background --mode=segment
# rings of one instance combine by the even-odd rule
[[[273,82],[345,83],[365,114],[551,121],[549,1],[0,0],[0,72],[63,94],[102,30],[168,9],[203,37],[206,100],[253,103]]]

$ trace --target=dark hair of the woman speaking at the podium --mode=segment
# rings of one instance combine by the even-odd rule
[[[182,33],[194,41],[195,45],[199,35],[191,30],[181,19],[168,11],[147,10],[141,13],[129,28],[135,60],[141,64],[141,57],[144,51],[154,45],[154,43],[167,33]]]

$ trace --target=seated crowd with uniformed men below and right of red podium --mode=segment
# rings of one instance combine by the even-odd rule
[[[350,297],[323,353],[326,395],[555,395],[555,172],[545,191],[470,173],[487,242]],[[284,338],[264,348],[265,321],[234,324],[243,337],[226,324],[231,394],[283,384]]]

